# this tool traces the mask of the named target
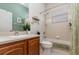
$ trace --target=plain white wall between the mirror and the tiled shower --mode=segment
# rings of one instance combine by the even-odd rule
[[[37,16],[40,21],[39,24],[35,23],[31,26],[31,33],[36,33],[40,31],[43,33],[44,31],[44,15],[41,15],[40,12],[44,11],[45,5],[43,3],[30,3],[29,4],[29,18],[32,20],[33,16]]]

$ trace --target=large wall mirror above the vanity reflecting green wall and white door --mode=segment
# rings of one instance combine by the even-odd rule
[[[0,32],[24,31],[28,17],[28,3],[0,3]]]

